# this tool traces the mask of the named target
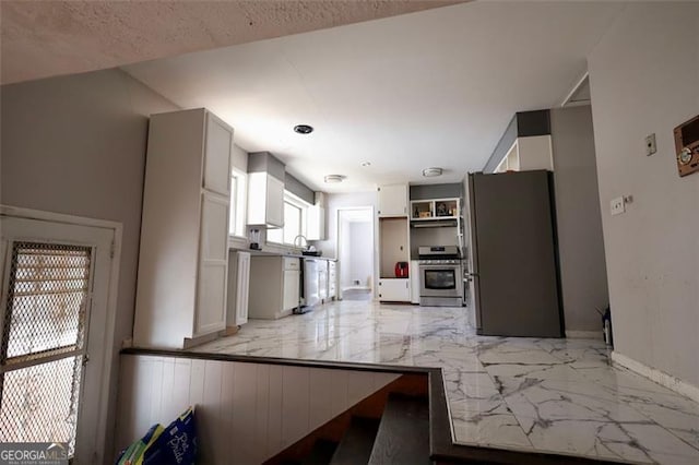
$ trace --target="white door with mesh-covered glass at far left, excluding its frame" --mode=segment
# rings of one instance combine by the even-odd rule
[[[0,217],[0,441],[105,457],[114,229]]]

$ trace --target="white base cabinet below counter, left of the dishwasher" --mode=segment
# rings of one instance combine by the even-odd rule
[[[250,261],[249,317],[275,320],[299,305],[300,260],[254,255]]]

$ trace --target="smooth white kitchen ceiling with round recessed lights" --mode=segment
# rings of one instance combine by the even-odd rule
[[[315,190],[459,182],[516,111],[564,102],[623,8],[476,1],[122,69],[182,108],[211,109],[236,144],[273,153]],[[300,136],[299,123],[316,131]],[[424,178],[430,166],[443,175]]]

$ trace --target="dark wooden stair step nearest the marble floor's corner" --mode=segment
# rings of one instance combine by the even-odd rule
[[[368,463],[431,464],[429,405],[426,398],[389,395]]]

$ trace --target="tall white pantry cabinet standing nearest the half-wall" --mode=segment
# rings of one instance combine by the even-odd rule
[[[233,129],[204,109],[149,126],[133,339],[182,348],[226,325]]]

